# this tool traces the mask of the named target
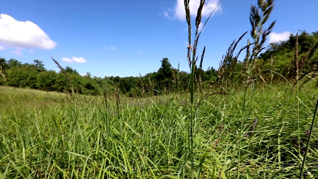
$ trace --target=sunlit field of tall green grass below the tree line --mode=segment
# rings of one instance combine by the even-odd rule
[[[318,89],[288,84],[195,95],[194,165],[203,179],[299,178]],[[206,94],[218,91],[211,89]],[[187,93],[78,96],[0,87],[1,179],[189,178]],[[245,102],[244,102],[245,101]],[[314,127],[304,178],[318,178]],[[198,171],[201,170],[200,173]]]

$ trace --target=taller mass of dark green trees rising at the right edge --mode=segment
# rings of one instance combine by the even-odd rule
[[[296,34],[294,36],[291,34],[286,41],[271,43],[269,48],[260,54],[260,63],[264,64],[264,69],[271,69],[289,80],[295,80],[297,61],[297,63],[301,63],[299,65],[302,67],[299,72],[300,79],[306,77],[309,79],[315,77],[318,72],[317,46],[318,31],[309,34],[303,30],[300,35]],[[296,50],[297,54],[295,55]],[[270,78],[269,71],[264,71],[263,74]],[[277,74],[273,75],[273,80],[281,78]]]

